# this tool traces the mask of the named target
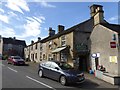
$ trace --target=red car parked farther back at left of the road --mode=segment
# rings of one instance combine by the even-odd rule
[[[24,65],[25,61],[22,59],[20,56],[10,56],[8,57],[7,60],[8,64],[13,64],[13,65]]]

